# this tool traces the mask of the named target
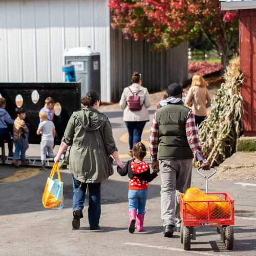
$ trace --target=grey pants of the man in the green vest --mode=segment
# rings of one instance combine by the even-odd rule
[[[193,159],[160,160],[161,218],[163,226],[180,227],[180,193],[191,184]]]

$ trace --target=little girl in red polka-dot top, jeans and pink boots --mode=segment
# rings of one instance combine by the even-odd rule
[[[133,146],[134,159],[128,161],[123,168],[117,166],[117,172],[121,176],[129,177],[129,232],[134,233],[135,223],[137,230],[144,231],[143,222],[147,199],[147,186],[157,177],[156,173],[150,173],[150,166],[143,161],[146,156],[146,147],[138,142]]]

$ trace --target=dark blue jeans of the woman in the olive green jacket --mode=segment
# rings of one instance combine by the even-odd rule
[[[78,209],[81,211],[81,218],[83,203],[86,199],[86,189],[89,189],[89,208],[88,219],[91,229],[96,229],[99,226],[99,219],[101,214],[100,204],[100,185],[101,183],[82,183],[78,181],[72,174],[73,179],[73,212]]]

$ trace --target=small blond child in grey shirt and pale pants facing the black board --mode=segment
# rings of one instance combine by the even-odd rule
[[[54,137],[56,135],[54,123],[48,120],[48,113],[46,111],[40,111],[39,117],[41,122],[38,125],[36,131],[37,135],[41,134],[41,168],[40,170],[46,170],[46,156],[54,158],[53,153]]]

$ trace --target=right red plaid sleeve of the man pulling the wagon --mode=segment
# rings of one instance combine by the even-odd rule
[[[205,160],[205,156],[203,155],[202,146],[198,136],[195,114],[192,111],[190,111],[187,116],[186,134],[189,146],[193,151],[195,158],[197,158],[198,161]]]

